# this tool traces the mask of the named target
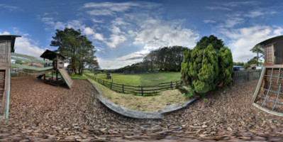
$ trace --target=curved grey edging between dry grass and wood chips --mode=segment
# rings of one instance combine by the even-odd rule
[[[109,109],[111,109],[112,111],[115,111],[118,114],[130,117],[130,118],[133,118],[133,119],[162,119],[165,114],[168,114],[172,111],[177,111],[179,109],[183,109],[184,107],[187,107],[189,104],[192,104],[192,102],[194,102],[196,100],[196,98],[189,99],[187,102],[185,102],[182,105],[172,104],[170,106],[163,107],[161,109],[162,112],[133,111],[133,110],[130,110],[130,109],[120,107],[117,104],[110,102],[108,99],[105,99],[101,95],[101,90],[98,87],[96,87],[96,85],[94,83],[92,83],[90,80],[87,79],[87,81],[92,84],[94,89],[96,89],[96,91],[98,92],[97,99],[99,99],[99,101],[102,104],[104,104],[104,106],[108,107]]]

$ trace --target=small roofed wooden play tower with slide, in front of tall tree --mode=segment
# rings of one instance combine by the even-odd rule
[[[45,74],[43,75],[45,83],[54,84],[54,85],[60,85],[66,83],[69,88],[71,87],[72,79],[68,75],[68,72],[65,70],[64,56],[55,53],[54,51],[51,50],[45,50],[45,52],[42,55],[40,55],[40,58],[43,58],[43,60],[53,61],[52,62],[53,70],[51,76],[46,76]],[[55,77],[53,77],[53,74],[55,74]]]

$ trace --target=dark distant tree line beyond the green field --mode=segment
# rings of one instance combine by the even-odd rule
[[[121,67],[116,72],[180,71],[185,50],[189,50],[189,48],[183,46],[158,48],[157,50],[150,51],[143,58],[143,62]]]

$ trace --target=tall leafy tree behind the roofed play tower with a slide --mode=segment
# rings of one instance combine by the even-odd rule
[[[57,46],[60,54],[67,58],[74,69],[74,73],[82,75],[84,67],[98,68],[96,60],[96,50],[92,42],[82,35],[81,31],[74,28],[65,28],[64,31],[56,30],[55,36],[52,36],[51,46]]]

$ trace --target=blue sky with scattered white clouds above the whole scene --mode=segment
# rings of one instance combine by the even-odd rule
[[[0,35],[21,35],[15,53],[39,57],[57,49],[50,46],[56,29],[80,29],[101,69],[132,65],[165,46],[193,49],[216,35],[234,62],[247,62],[254,45],[283,34],[282,12],[283,1],[0,0]]]

